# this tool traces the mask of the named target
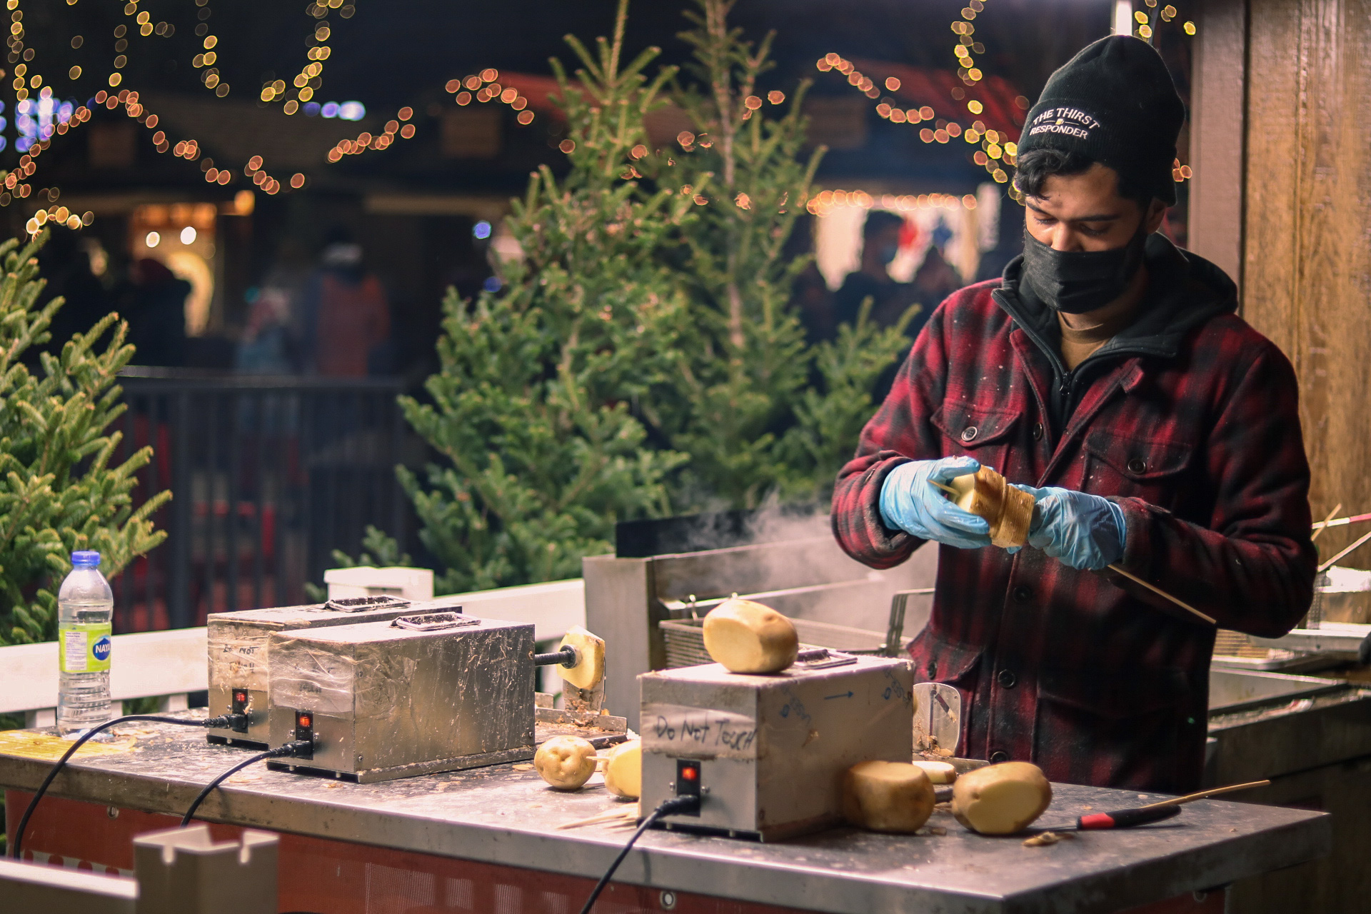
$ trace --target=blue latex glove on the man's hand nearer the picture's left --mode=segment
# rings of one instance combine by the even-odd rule
[[[921,540],[946,543],[962,549],[990,545],[990,523],[947,500],[947,493],[931,482],[947,484],[980,469],[975,458],[942,458],[901,463],[880,486],[880,518],[886,526]]]

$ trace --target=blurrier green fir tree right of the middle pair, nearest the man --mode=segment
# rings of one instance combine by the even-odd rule
[[[786,256],[786,243],[823,155],[802,158],[808,84],[788,99],[764,93],[773,36],[744,41],[728,26],[733,0],[698,5],[687,12],[695,27],[681,34],[695,81],[676,97],[695,130],[677,137],[677,177],[684,189],[712,181],[713,190],[694,190],[707,200],[681,229],[692,334],[677,356],[681,397],[664,404],[662,428],[691,456],[694,502],[823,502],[875,410],[876,375],[906,344],[903,323],[883,330],[862,319],[836,343],[806,343],[790,299],[810,258]]]

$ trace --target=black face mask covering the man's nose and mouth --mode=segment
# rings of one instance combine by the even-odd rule
[[[1024,275],[1047,307],[1084,314],[1124,293],[1142,266],[1146,243],[1141,223],[1128,244],[1109,251],[1054,251],[1026,230]]]

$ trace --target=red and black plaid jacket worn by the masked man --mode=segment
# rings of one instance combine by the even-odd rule
[[[1233,314],[1216,267],[1156,238],[1148,254],[1174,288],[1138,319],[1150,329],[1091,356],[1060,434],[1047,410],[1056,318],[1017,296],[1016,264],[1004,288],[949,297],[838,475],[842,547],[875,567],[905,560],[923,540],[884,526],[882,482],[905,460],[967,454],[1010,482],[1112,497],[1124,569],[1222,628],[1287,632],[1316,562],[1294,371]],[[1213,628],[1034,548],[939,549],[932,617],[910,655],[916,681],[961,691],[958,755],[1032,761],[1053,781],[1197,788]]]

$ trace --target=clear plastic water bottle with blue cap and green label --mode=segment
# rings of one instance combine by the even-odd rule
[[[73,552],[58,591],[58,732],[80,736],[110,713],[110,634],[114,593],[99,552]]]

